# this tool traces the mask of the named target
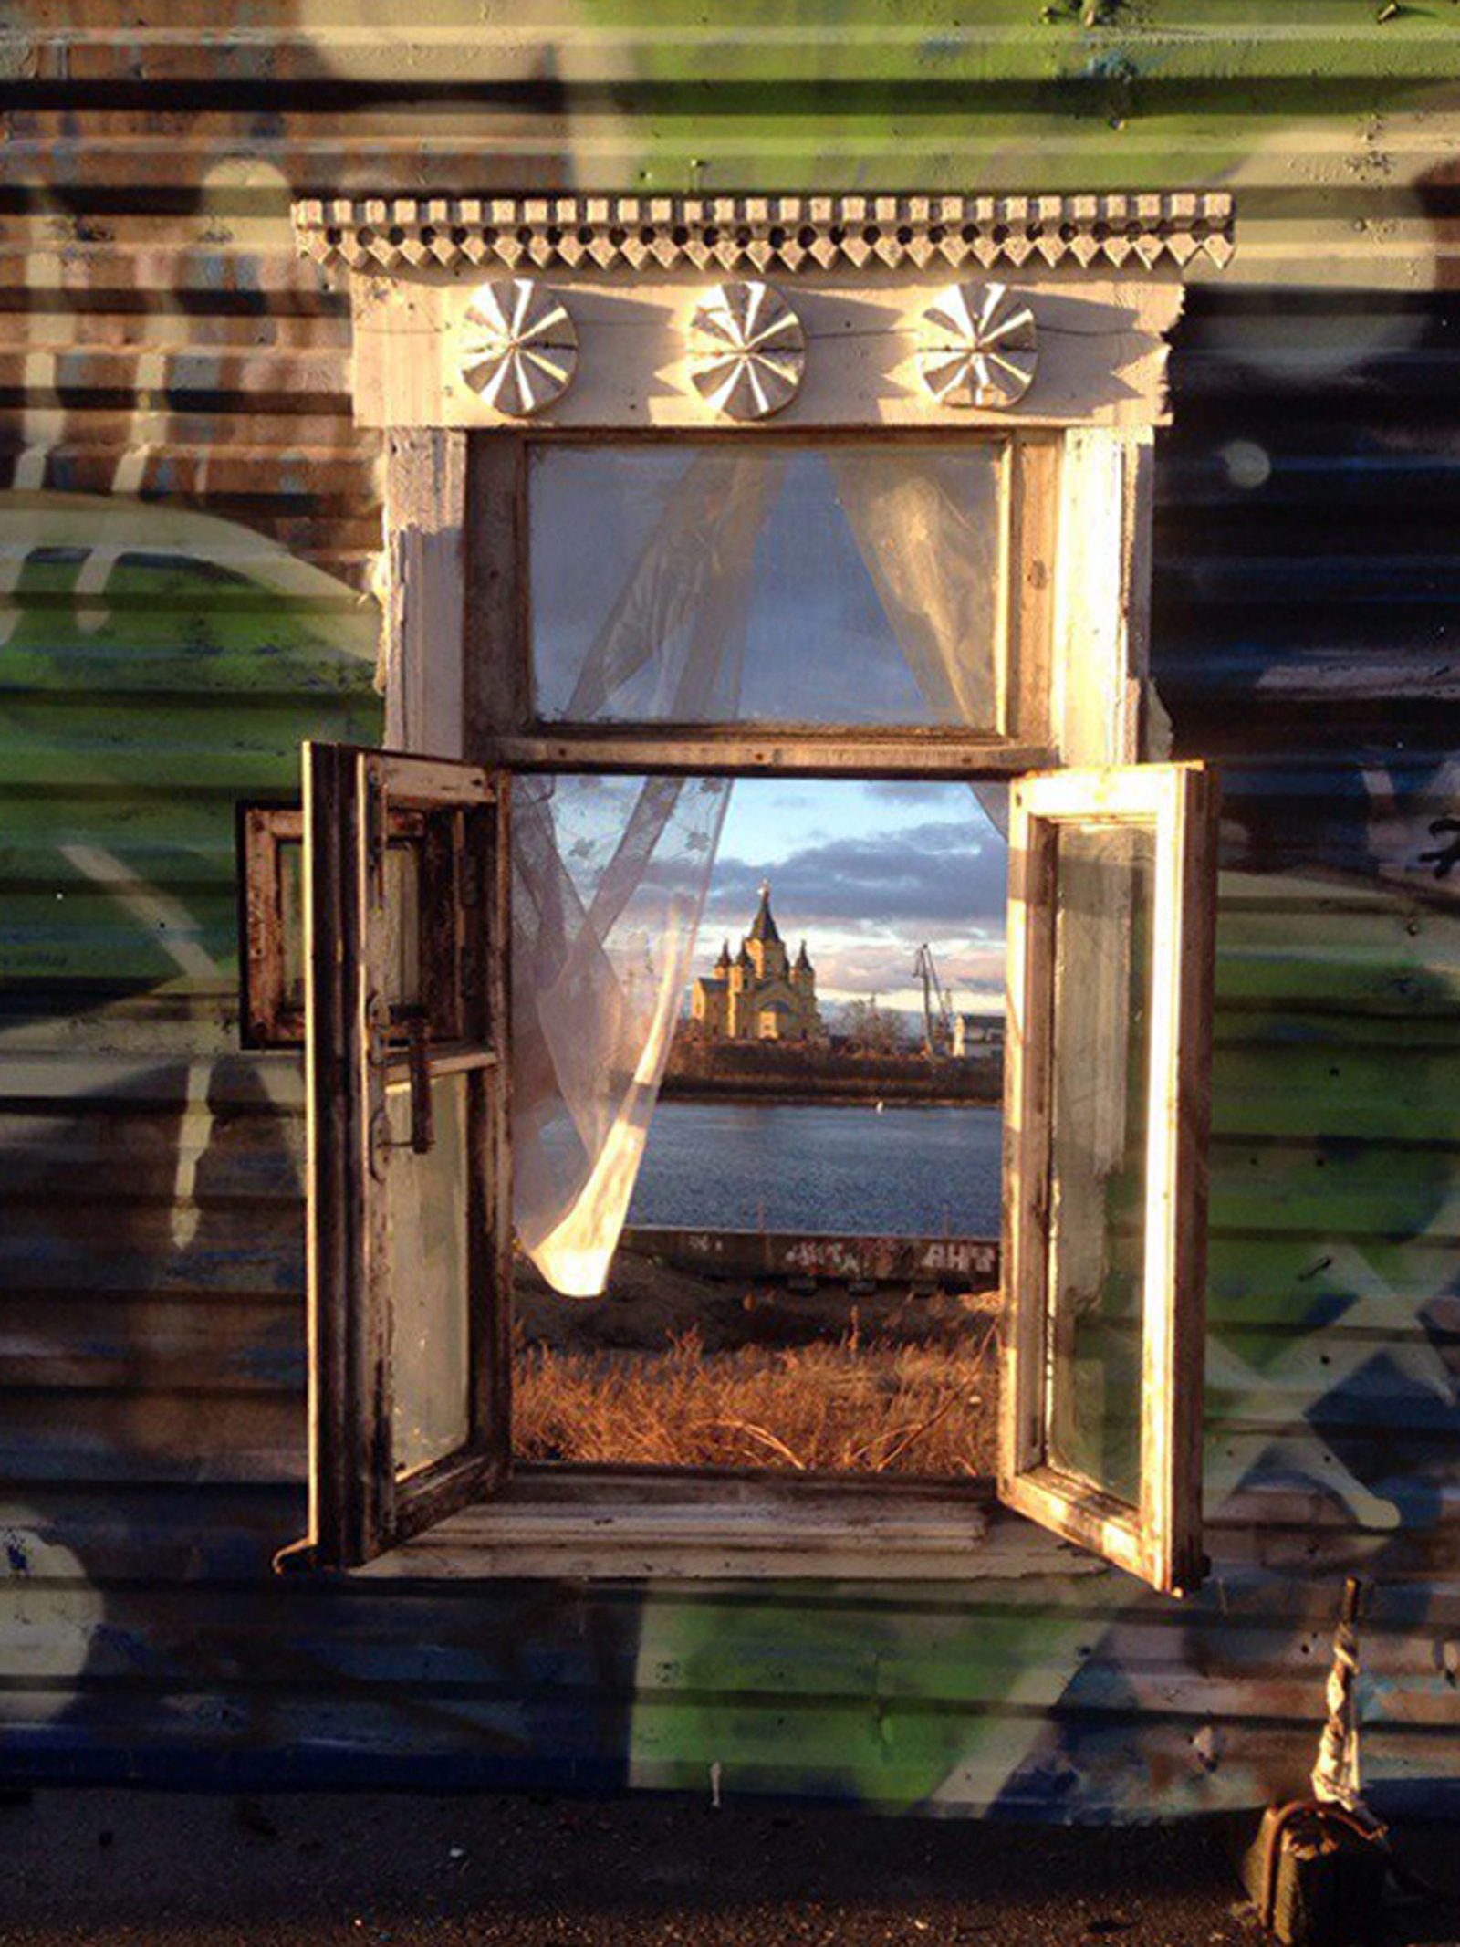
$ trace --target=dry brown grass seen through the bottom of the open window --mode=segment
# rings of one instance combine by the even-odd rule
[[[512,1425],[522,1460],[755,1466],[839,1474],[989,1474],[993,1332],[967,1349],[841,1340],[707,1353],[520,1345]]]

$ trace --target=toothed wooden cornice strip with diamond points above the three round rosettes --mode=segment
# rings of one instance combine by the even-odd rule
[[[790,273],[1150,269],[1232,255],[1221,189],[1063,197],[358,197],[294,204],[302,255],[350,271]]]

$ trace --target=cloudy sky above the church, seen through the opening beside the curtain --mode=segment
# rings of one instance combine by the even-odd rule
[[[921,1007],[929,940],[962,1009],[1003,1007],[1006,847],[966,785],[740,779],[714,861],[699,972],[730,950],[759,884],[790,952],[806,937],[818,993]]]

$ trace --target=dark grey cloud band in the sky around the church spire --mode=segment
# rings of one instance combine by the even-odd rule
[[[884,835],[825,839],[769,872],[777,917],[816,925],[1003,925],[1004,847],[969,820],[936,820]],[[720,857],[711,878],[714,923],[744,925],[767,868]]]

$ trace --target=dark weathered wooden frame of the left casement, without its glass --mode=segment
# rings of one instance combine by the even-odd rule
[[[306,744],[302,759],[310,1530],[284,1558],[350,1567],[491,1493],[510,1468],[510,794],[481,767],[419,755]],[[442,1042],[403,1034],[387,1001],[383,855],[397,814],[417,824],[420,814],[459,814],[457,853],[475,837],[481,855],[475,896],[454,876],[452,925],[428,929],[422,946],[430,979],[456,987],[448,1014],[459,1032]],[[411,1086],[415,1110],[419,1086],[457,1073],[467,1075],[469,1118],[467,1437],[403,1474],[393,1464],[385,1092]],[[415,1135],[413,1114],[413,1147]]]

